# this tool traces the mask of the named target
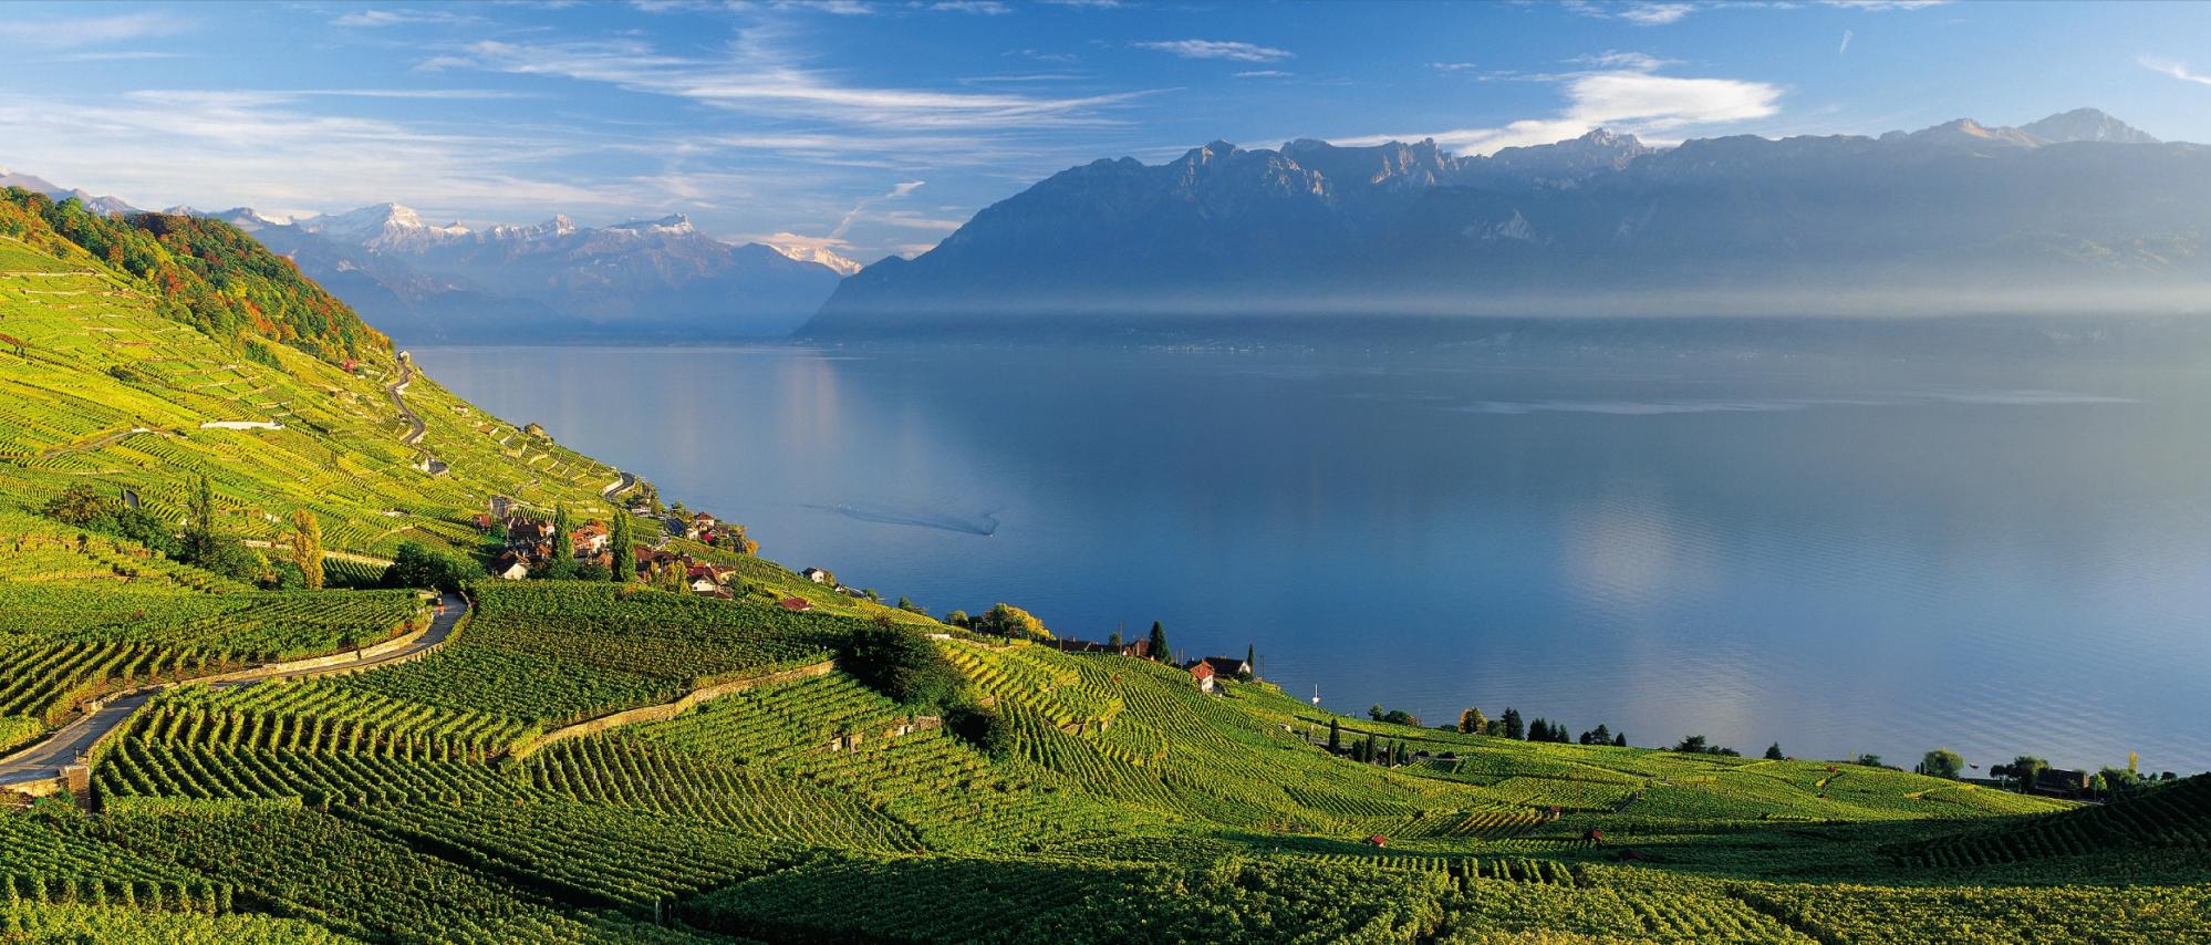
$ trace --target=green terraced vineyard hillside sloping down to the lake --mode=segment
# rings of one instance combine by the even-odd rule
[[[265,591],[155,549],[186,527],[283,560],[307,509],[343,553],[334,584],[369,584],[402,542],[486,553],[469,518],[491,496],[624,516],[606,494],[621,476],[409,376],[371,332],[307,330],[332,312],[314,292],[254,301],[287,279],[221,230],[164,266],[292,314],[179,316],[135,243],[91,252],[71,230],[88,224],[62,224],[0,232],[0,750],[69,735],[95,699],[124,710],[84,752],[84,790],[0,792],[20,808],[0,812],[0,943],[2211,927],[2204,779],[2078,808],[1886,768],[1329,717],[1265,682],[1203,693],[681,540],[745,593],[482,580],[451,637],[407,660],[214,684],[438,624],[411,589]],[[237,420],[274,427],[206,427]],[[214,522],[190,522],[201,476]],[[53,518],[71,487],[135,500],[150,531]],[[1331,724],[1404,764],[1331,752]]]

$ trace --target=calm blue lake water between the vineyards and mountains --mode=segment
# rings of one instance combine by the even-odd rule
[[[444,347],[509,420],[935,613],[1167,624],[1289,693],[1760,752],[2211,768],[2182,367]]]

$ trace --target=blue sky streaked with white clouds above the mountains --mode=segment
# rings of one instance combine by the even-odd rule
[[[2211,142],[2211,4],[9,4],[0,166],[137,206],[690,215],[873,261],[1099,157],[1877,135],[2098,106]]]

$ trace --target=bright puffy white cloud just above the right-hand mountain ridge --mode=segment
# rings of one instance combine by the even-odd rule
[[[1782,91],[1764,82],[1691,80],[1614,69],[1554,77],[1563,82],[1565,108],[1552,117],[1521,120],[1495,128],[1453,128],[1413,135],[1360,135],[1335,144],[1364,146],[1433,137],[1461,153],[1495,153],[1530,144],[1552,144],[1610,126],[1636,135],[1749,122],[1780,113]]]

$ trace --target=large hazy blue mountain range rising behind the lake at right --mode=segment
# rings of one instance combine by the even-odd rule
[[[2083,108],[1882,137],[1227,142],[1101,159],[845,279],[803,334],[1139,316],[2196,305],[2211,148]],[[2058,294],[2067,292],[2067,294]],[[2147,299],[2147,301],[2145,301]]]

